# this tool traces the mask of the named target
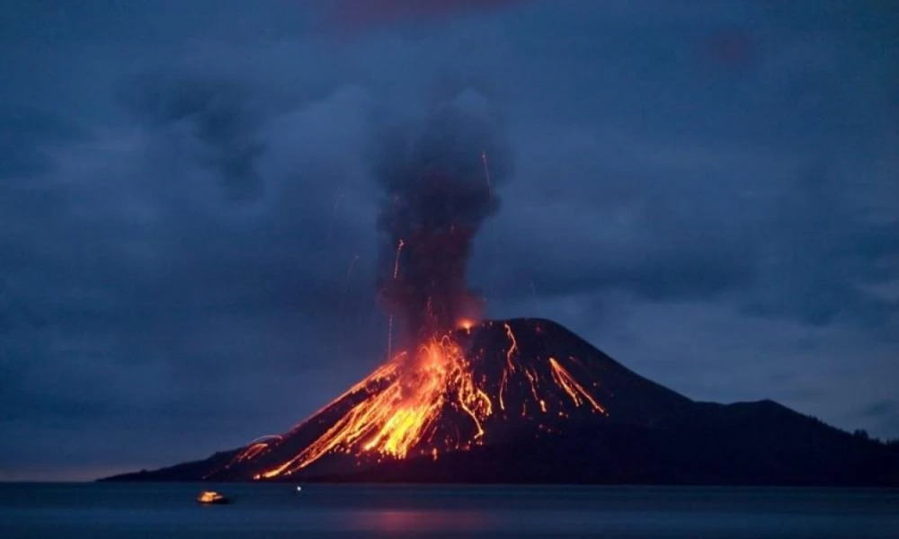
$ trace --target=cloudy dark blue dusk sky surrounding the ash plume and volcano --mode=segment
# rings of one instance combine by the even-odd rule
[[[702,401],[899,437],[888,1],[10,0],[0,481],[282,432],[386,355],[385,126],[510,148],[472,287]]]

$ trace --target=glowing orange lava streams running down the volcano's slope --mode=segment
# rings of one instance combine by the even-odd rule
[[[569,398],[576,407],[589,403],[592,412],[608,415],[593,395],[555,358],[548,358],[547,363],[540,361],[539,365],[520,364],[516,369],[517,361],[513,357],[518,344],[508,324],[505,330],[511,345],[506,353],[506,365],[501,373],[496,373],[500,376],[499,381],[496,378],[490,381],[487,376],[476,378],[475,367],[455,340],[449,335],[434,337],[419,347],[414,356],[407,358],[405,352],[398,354],[325,406],[322,411],[341,402],[352,408],[343,411],[323,434],[298,454],[256,473],[254,478],[289,475],[330,454],[354,455],[357,459],[367,455],[378,461],[427,455],[436,460],[441,453],[467,450],[483,443],[488,423],[494,424],[491,422],[494,399],[499,409],[505,411],[509,394],[503,397],[503,393],[513,387],[515,394],[521,396],[524,391],[533,396],[533,401],[530,396],[521,401],[522,417],[527,417],[529,402],[533,404],[531,410],[539,407],[540,411],[548,413],[552,407],[553,415],[568,417],[565,401]],[[545,366],[548,366],[547,370],[543,370]],[[513,376],[516,370],[521,374]],[[352,400],[345,401],[346,398]],[[460,435],[458,430],[455,436],[446,433],[443,420],[447,417],[446,412],[452,410],[458,412],[457,420],[471,420],[468,434]],[[317,416],[314,414],[310,420]],[[307,424],[309,420],[291,432]],[[288,436],[279,438],[278,442]],[[263,455],[274,445],[272,440],[254,440],[236,462]]]

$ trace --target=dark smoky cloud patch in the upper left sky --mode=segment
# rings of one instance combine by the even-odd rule
[[[262,193],[258,122],[236,84],[144,74],[125,84],[120,97],[156,128],[187,125],[202,146],[198,161],[216,173],[227,199],[256,199]]]

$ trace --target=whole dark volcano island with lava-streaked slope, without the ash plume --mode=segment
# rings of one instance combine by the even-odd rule
[[[776,402],[695,402],[557,323],[400,353],[288,432],[112,480],[899,484],[899,452]]]

